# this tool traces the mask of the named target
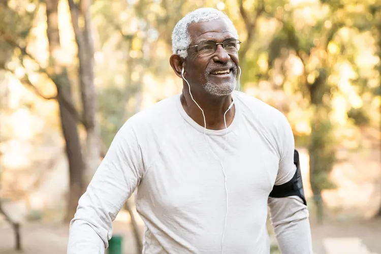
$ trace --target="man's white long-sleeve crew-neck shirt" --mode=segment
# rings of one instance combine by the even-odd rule
[[[269,198],[274,184],[295,173],[290,124],[244,93],[234,92],[233,100],[228,129],[205,135],[179,94],[131,117],[79,200],[68,254],[103,254],[112,221],[136,188],[144,254],[219,254],[222,246],[226,254],[268,254],[268,206],[282,253],[312,254],[301,199]]]

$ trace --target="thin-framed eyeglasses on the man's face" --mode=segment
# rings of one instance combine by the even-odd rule
[[[197,47],[197,51],[199,52],[199,54],[209,55],[209,54],[213,54],[217,50],[217,45],[219,44],[223,46],[226,52],[234,54],[238,52],[241,42],[236,39],[229,39],[219,43],[216,43],[213,41],[205,41],[205,42],[200,42],[197,45],[190,46],[188,48]]]

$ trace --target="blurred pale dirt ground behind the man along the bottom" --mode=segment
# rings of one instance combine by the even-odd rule
[[[327,222],[311,225],[314,254],[381,254],[381,219],[369,221]],[[117,223],[115,233],[123,235],[124,254],[135,254],[128,224]],[[23,254],[66,254],[68,227],[28,224],[22,227]],[[0,253],[13,251],[13,232],[0,225]]]

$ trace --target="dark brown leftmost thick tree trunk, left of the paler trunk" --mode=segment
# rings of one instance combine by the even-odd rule
[[[54,73],[51,74],[57,87],[59,115],[63,137],[66,142],[66,154],[69,161],[69,199],[65,221],[70,221],[76,212],[78,200],[84,192],[84,164],[81,144],[77,129],[77,119],[69,111],[66,103],[73,104],[71,83],[67,69],[60,64],[58,52],[61,51],[58,30],[58,0],[46,0],[47,36],[49,41],[50,63]]]

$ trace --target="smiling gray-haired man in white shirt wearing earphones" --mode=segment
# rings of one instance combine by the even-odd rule
[[[290,124],[235,91],[240,43],[215,9],[176,24],[170,64],[183,91],[116,134],[79,200],[69,254],[104,253],[112,221],[136,188],[144,254],[268,254],[268,205],[282,253],[312,253]],[[300,192],[288,194],[288,185]],[[285,187],[272,196],[277,186]]]

